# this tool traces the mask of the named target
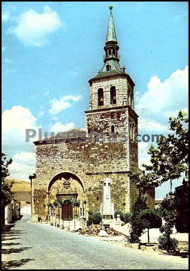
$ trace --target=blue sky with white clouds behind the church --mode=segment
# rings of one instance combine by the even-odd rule
[[[85,127],[88,80],[103,66],[113,5],[120,65],[135,82],[139,133],[168,132],[168,118],[188,107],[188,2],[3,2],[3,150],[12,178],[34,171],[25,129]],[[139,143],[139,164],[149,143]],[[174,181],[174,186],[181,181]],[[169,183],[156,189],[164,197]]]

